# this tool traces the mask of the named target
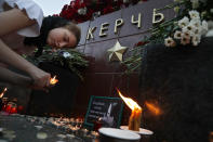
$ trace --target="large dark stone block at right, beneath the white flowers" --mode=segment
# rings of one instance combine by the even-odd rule
[[[141,75],[143,127],[155,132],[152,142],[208,142],[213,131],[213,38],[199,47],[147,47]]]

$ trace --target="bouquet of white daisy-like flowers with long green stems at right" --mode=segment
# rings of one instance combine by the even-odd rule
[[[127,73],[132,73],[142,65],[143,49],[147,44],[163,43],[169,48],[179,48],[179,44],[197,47],[208,31],[208,23],[213,21],[212,0],[174,0],[172,4],[157,9],[157,12],[165,9],[173,9],[176,16],[154,25],[149,30],[151,35],[135,44],[131,51],[132,56],[122,62],[127,66]]]

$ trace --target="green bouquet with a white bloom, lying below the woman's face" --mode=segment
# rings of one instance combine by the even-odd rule
[[[35,53],[37,51],[35,51]],[[44,47],[40,56],[36,57],[32,54],[27,56],[24,55],[24,57],[36,65],[38,65],[40,62],[50,62],[55,65],[59,65],[77,74],[81,80],[83,80],[81,69],[88,66],[88,61],[85,60],[85,56],[74,49],[59,49],[53,51],[52,48]]]

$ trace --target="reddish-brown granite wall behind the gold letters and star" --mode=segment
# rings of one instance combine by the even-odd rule
[[[129,50],[123,54],[123,57],[131,55],[129,52],[135,43],[143,40],[147,35],[148,28],[152,26],[152,12],[154,9],[163,8],[164,5],[173,2],[172,0],[149,0],[142,4],[132,5],[128,9],[103,15],[89,21],[79,26],[82,29],[82,38],[78,46],[78,51],[84,53],[89,61],[90,66],[84,72],[85,80],[80,83],[75,105],[75,115],[83,117],[86,113],[86,107],[91,95],[99,96],[118,96],[116,88],[120,89],[124,95],[128,95],[136,101],[139,99],[139,79],[138,70],[130,76],[123,75],[124,68],[119,62],[109,62],[107,50],[112,48],[118,40],[121,46],[128,47]],[[161,11],[165,20],[174,16],[172,10]],[[132,15],[137,20],[138,13],[142,14],[142,27],[131,23]],[[123,20],[123,25],[118,28],[118,34],[114,33],[115,22],[118,18]],[[103,23],[108,23],[108,30],[105,37],[99,37],[99,28]],[[94,39],[86,40],[88,29],[96,27],[93,33]],[[122,125],[127,125],[130,116],[130,108],[124,106],[124,114]]]

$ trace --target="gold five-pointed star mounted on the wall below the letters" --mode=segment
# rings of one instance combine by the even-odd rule
[[[107,52],[109,53],[109,61],[122,61],[123,53],[125,52],[128,48],[122,47],[120,42],[117,40],[116,44],[111,48],[108,49]]]

